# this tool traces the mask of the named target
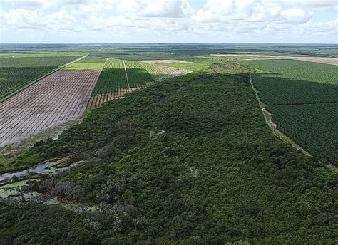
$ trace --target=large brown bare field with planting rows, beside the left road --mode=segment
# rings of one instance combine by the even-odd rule
[[[81,118],[101,71],[56,71],[0,104],[0,147]]]

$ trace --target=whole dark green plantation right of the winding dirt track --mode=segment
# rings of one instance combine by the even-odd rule
[[[337,66],[306,61],[241,61],[277,128],[312,155],[337,164]]]

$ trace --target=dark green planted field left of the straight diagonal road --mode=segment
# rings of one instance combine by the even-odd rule
[[[40,78],[84,53],[1,53],[0,99]]]

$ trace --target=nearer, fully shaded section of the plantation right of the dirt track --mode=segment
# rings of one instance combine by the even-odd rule
[[[277,127],[310,153],[338,162],[338,104],[269,106]]]

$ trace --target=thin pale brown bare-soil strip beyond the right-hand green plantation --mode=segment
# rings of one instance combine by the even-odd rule
[[[314,63],[323,63],[338,66],[338,58],[325,58],[325,57],[307,57],[307,56],[260,56],[252,53],[242,54],[215,54],[212,56],[247,56],[248,60],[296,60],[296,61],[309,61]]]

